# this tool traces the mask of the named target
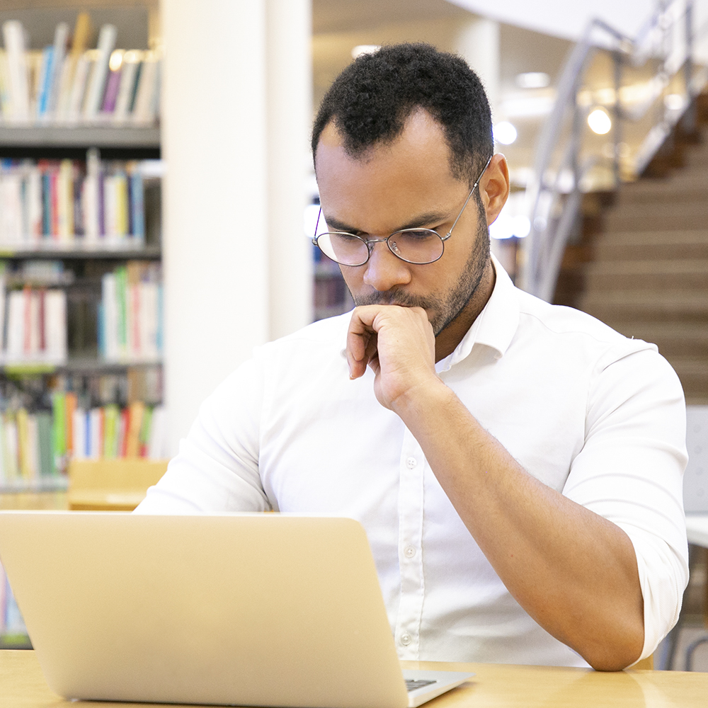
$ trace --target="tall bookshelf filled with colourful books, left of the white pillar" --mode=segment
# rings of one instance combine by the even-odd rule
[[[55,5],[0,12],[0,508],[69,508],[72,460],[164,468],[156,4]]]

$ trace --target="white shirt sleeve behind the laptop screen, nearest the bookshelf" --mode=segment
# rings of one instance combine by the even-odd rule
[[[262,400],[262,367],[250,360],[204,401],[178,455],[135,513],[268,510],[258,474]]]

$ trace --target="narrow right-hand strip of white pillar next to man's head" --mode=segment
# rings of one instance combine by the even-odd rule
[[[312,322],[312,244],[304,236],[312,156],[311,0],[268,0],[270,338]]]

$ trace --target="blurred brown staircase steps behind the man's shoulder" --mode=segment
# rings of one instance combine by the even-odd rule
[[[699,107],[706,105],[702,97]],[[655,343],[687,403],[708,404],[708,127],[689,140],[674,137],[612,202],[599,220],[588,219],[599,229],[586,228],[583,243],[566,253],[556,302]]]

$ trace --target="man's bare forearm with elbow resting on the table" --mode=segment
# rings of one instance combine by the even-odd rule
[[[636,661],[643,602],[624,531],[527,474],[439,379],[410,389],[392,409],[531,617],[594,668]]]

